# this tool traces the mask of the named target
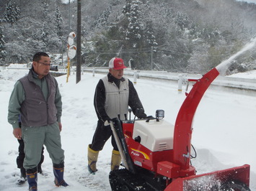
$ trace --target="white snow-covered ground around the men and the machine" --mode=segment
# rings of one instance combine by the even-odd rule
[[[0,190],[27,190],[27,183],[16,185],[19,178],[16,165],[18,142],[12,135],[12,126],[7,122],[13,85],[25,74],[27,70],[0,71]],[[92,141],[97,124],[93,106],[94,88],[102,76],[96,74],[92,77],[92,73],[84,73],[78,84],[73,73],[69,83],[66,83],[66,75],[57,78],[63,96],[61,137],[66,156],[64,177],[70,186],[54,186],[52,164],[45,150],[43,171],[48,176],[39,175],[38,190],[110,190],[110,141],[100,152],[97,162],[99,171],[95,175],[87,172],[87,146]],[[237,74],[236,78],[255,76],[255,71],[252,71]],[[135,86],[147,115],[154,116],[156,109],[164,109],[165,119],[175,124],[177,112],[185,99],[185,87],[182,93],[178,93],[177,83],[144,79],[138,79]],[[250,188],[256,190],[255,113],[256,96],[235,94],[221,88],[206,91],[193,122],[192,143],[198,157],[192,163],[198,174],[250,164]]]

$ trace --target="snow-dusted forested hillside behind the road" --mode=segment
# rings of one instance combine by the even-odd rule
[[[30,62],[37,51],[65,53],[76,6],[1,0],[0,63]],[[88,66],[119,56],[138,70],[205,73],[256,37],[256,4],[235,0],[81,0],[81,17]],[[255,58],[255,49],[247,52],[229,72],[252,70]]]

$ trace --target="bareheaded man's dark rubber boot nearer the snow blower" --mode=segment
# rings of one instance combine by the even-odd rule
[[[67,187],[69,186],[65,180],[63,179],[63,175],[64,175],[64,162],[62,162],[61,164],[53,164],[53,174],[55,176],[55,180],[54,183],[57,187],[59,186],[63,186],[63,187]]]

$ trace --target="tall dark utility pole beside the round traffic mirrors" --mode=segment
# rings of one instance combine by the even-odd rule
[[[77,0],[76,83],[81,80],[81,0]]]

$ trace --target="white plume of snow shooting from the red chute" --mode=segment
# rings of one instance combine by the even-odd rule
[[[219,65],[217,65],[216,69],[219,71],[220,75],[225,75],[226,74],[226,70],[231,65],[231,61],[234,60],[239,55],[242,55],[242,53],[244,53],[245,51],[250,50],[252,47],[255,46],[255,44],[256,44],[256,38],[252,39],[252,41],[250,43],[247,43],[247,45],[245,45],[242,48],[242,50],[240,50],[236,54],[234,54],[231,57],[229,57],[228,60],[224,60],[224,62],[221,62]]]

